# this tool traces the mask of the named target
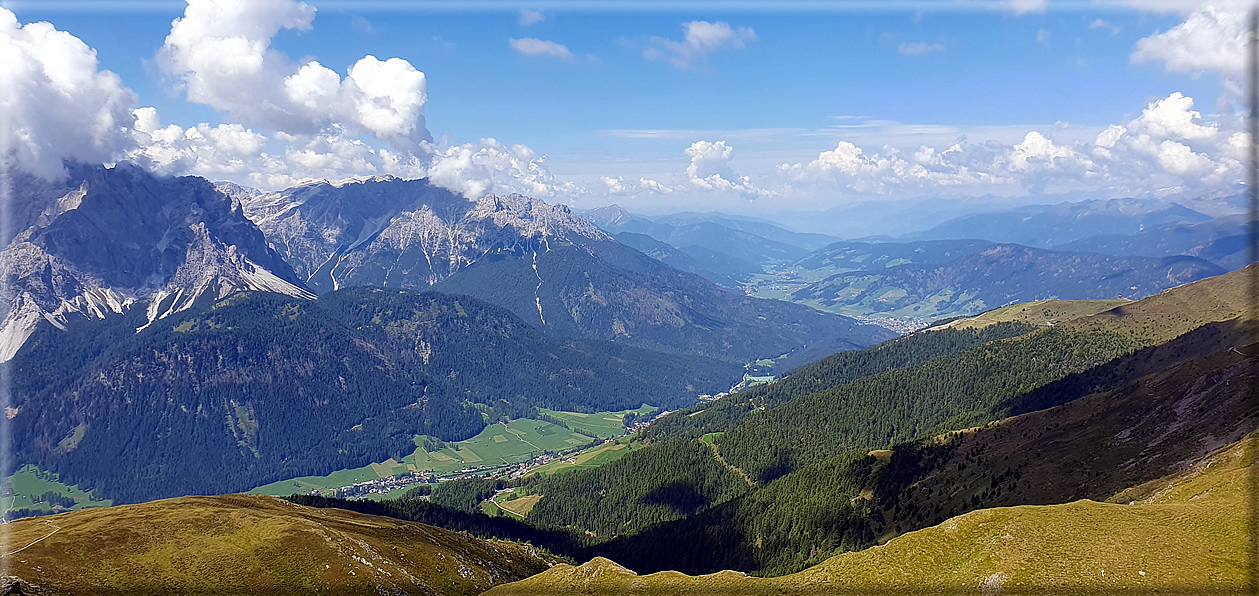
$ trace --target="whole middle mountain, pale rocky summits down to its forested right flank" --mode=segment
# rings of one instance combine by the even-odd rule
[[[472,202],[426,180],[316,181],[243,199],[312,290],[428,289],[549,333],[749,362],[890,338],[842,316],[724,290],[621,244],[565,205]]]

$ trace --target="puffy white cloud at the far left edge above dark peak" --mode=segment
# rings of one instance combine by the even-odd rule
[[[53,179],[63,160],[110,161],[130,147],[136,95],[96,50],[0,8],[0,160]]]

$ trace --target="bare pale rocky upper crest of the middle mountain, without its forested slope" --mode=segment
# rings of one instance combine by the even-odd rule
[[[393,176],[320,180],[240,198],[246,214],[320,292],[426,287],[486,255],[539,249],[533,241],[608,238],[564,205],[517,194],[471,202],[427,180]]]

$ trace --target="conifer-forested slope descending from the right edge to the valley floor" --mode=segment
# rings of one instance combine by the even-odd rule
[[[614,559],[632,568],[684,568],[691,572],[720,568],[797,570],[818,553],[826,556],[837,548],[852,548],[861,541],[872,542],[889,528],[896,532],[889,514],[879,514],[883,522],[867,520],[867,517],[875,515],[875,509],[862,512],[861,507],[856,507],[860,501],[854,501],[851,509],[835,507],[837,500],[855,499],[861,491],[872,489],[862,470],[879,469],[886,461],[869,460],[866,454],[871,450],[891,447],[895,454],[913,452],[913,449],[896,445],[1011,415],[1071,404],[1090,393],[1118,392],[1126,387],[1134,391],[1134,383],[1148,382],[1142,381],[1144,377],[1163,374],[1177,365],[1190,368],[1178,369],[1182,370],[1177,373],[1181,374],[1178,381],[1165,384],[1191,387],[1194,379],[1206,374],[1199,372],[1210,369],[1192,368],[1206,367],[1194,364],[1196,359],[1230,347],[1245,352],[1246,328],[1240,326],[1238,320],[1246,316],[1246,273],[1204,280],[1112,311],[1022,335],[1017,335],[1017,324],[988,326],[985,329],[997,333],[1002,325],[1015,325],[1007,333],[1017,336],[1006,335],[1010,339],[996,338],[973,347],[949,344],[954,348],[940,349],[942,354],[925,362],[912,364],[900,360],[899,364],[906,368],[895,368],[896,360],[886,359],[884,362],[890,369],[872,375],[860,373],[862,359],[874,358],[883,350],[888,354],[912,354],[914,350],[908,348],[914,345],[915,338],[958,331],[920,331],[875,349],[836,355],[828,363],[818,363],[812,369],[812,377],[825,379],[827,365],[846,362],[846,365],[833,368],[840,374],[832,372],[830,378],[841,379],[846,370],[852,370],[852,378],[821,391],[810,389],[811,374],[803,373],[811,369],[801,369],[768,387],[666,417],[657,422],[658,430],[653,425],[647,432],[651,447],[602,469],[574,471],[528,485],[530,491],[544,495],[530,513],[530,519],[572,524],[601,536],[623,536],[596,552],[616,554]],[[940,336],[934,341],[946,339]],[[778,386],[782,396],[774,397]],[[1219,403],[1236,403],[1240,391],[1248,386],[1233,382],[1212,387],[1211,391],[1219,393]],[[1126,412],[1139,411],[1134,403],[1141,402],[1115,403],[1127,403],[1118,411]],[[1228,416],[1234,417],[1230,420],[1245,420],[1239,412]],[[1177,418],[1163,416],[1158,420],[1173,423]],[[1054,422],[1045,421],[1044,425]],[[1206,432],[1205,428],[1199,430]],[[724,481],[733,489],[738,489],[740,474],[754,485],[745,485],[740,494],[731,496],[729,490],[733,489],[711,491],[700,485],[679,484],[671,479],[685,478],[685,474],[676,471],[658,481],[648,479],[651,461],[669,461],[674,457],[672,452],[697,449],[691,446],[699,445],[701,437],[713,445],[705,447],[711,449],[714,456],[721,456],[704,464],[705,470],[711,470],[705,474],[725,470]],[[1190,445],[1192,441],[1181,442]],[[1073,449],[1085,452],[1094,447],[1076,445]],[[899,457],[893,461],[899,466]],[[1146,474],[1151,470],[1157,469],[1138,467]],[[621,478],[632,478],[633,481],[624,483]],[[985,489],[991,488],[987,486],[990,481],[992,479],[982,478]],[[580,486],[596,486],[598,490],[580,493]],[[1055,490],[1058,494],[1073,494]],[[1055,490],[1049,494],[1055,494]],[[928,512],[922,518],[905,515],[904,507],[908,505],[904,505],[900,515],[908,525],[901,524],[900,530],[934,522],[933,515],[983,507],[997,498],[996,494],[980,493],[962,493],[952,504],[922,505]],[[548,504],[550,495],[558,498],[554,504]],[[624,501],[627,495],[636,495],[628,505]],[[671,503],[662,495],[682,495],[691,501],[706,499],[710,507],[715,507],[699,514],[679,513],[676,522],[626,537],[635,534],[635,528],[642,528],[635,522],[642,508]],[[980,499],[971,503],[969,499],[976,495]],[[568,499],[579,507],[560,507]],[[686,499],[674,503],[687,503]],[[618,503],[618,508],[603,507],[613,501]],[[889,507],[895,509],[896,505]],[[622,515],[621,512],[628,513]],[[769,522],[773,519],[793,529],[788,536],[772,541],[771,536],[777,536],[772,530],[776,522]],[[709,539],[714,541],[713,544],[703,546]],[[645,548],[650,543],[679,544],[679,549]],[[718,548],[716,543],[726,546]]]

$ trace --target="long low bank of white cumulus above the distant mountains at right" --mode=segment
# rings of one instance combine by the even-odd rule
[[[1241,180],[1249,136],[1205,122],[1194,100],[1172,93],[1141,116],[1112,125],[1092,141],[1061,142],[1031,130],[1019,142],[962,141],[946,150],[920,146],[866,152],[849,141],[778,173],[797,192],[841,188],[857,194],[922,194],[940,188],[1027,194],[1092,190],[1109,195],[1180,194]]]

